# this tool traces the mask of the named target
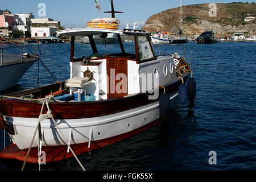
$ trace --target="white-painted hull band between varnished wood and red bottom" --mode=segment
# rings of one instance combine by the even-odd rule
[[[178,100],[177,95],[176,92],[170,96],[171,109],[174,109],[176,105]],[[102,117],[58,119],[56,123],[61,133],[63,133],[65,140],[69,141],[69,144],[80,144],[129,133],[156,119],[159,119],[159,101]],[[30,147],[38,119],[6,117],[6,121],[14,126],[15,135],[10,135],[10,137],[14,140],[19,149]],[[57,131],[51,119],[46,119],[40,124],[43,147],[65,145],[61,134]],[[37,147],[38,144],[38,134],[36,134],[32,147]]]

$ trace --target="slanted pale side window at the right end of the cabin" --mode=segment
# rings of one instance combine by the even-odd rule
[[[146,36],[138,36],[138,46],[139,46],[139,58],[140,60],[151,59],[154,54],[151,50],[150,43]]]

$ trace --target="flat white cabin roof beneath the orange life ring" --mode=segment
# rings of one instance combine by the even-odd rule
[[[125,35],[147,35],[148,33],[140,30],[112,30],[107,28],[71,28],[66,30],[56,31],[59,35],[65,36],[89,36],[89,35],[100,35],[102,33],[114,33],[114,34],[125,34]]]

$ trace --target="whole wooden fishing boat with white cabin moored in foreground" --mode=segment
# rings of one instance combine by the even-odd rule
[[[71,36],[70,78],[0,96],[0,127],[12,140],[0,158],[38,163],[45,152],[46,162],[53,162],[134,135],[168,118],[191,76],[182,57],[156,56],[144,31],[73,28],[58,34]],[[105,34],[117,35],[118,53],[98,51],[93,35]],[[134,53],[127,53],[121,35],[134,38]],[[93,55],[75,59],[75,36],[88,36]]]

